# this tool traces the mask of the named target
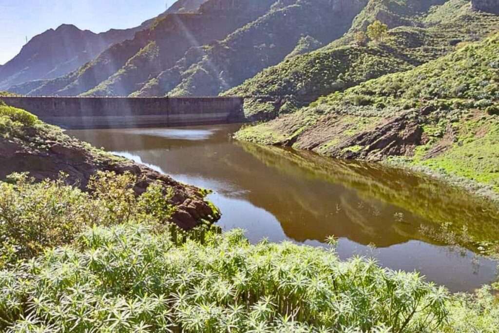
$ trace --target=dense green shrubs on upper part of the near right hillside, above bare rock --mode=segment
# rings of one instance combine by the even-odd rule
[[[422,105],[434,100],[435,106],[443,108],[486,108],[499,99],[499,63],[495,57],[498,43],[499,36],[495,35],[414,70],[361,83],[318,103],[355,105],[354,97],[363,96],[369,97],[369,104]]]

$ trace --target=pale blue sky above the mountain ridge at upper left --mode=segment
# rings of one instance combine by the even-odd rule
[[[174,0],[0,0],[0,64],[28,40],[62,23],[102,32],[137,26]]]

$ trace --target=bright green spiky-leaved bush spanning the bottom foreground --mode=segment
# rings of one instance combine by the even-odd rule
[[[447,316],[447,292],[416,273],[242,231],[178,246],[143,225],[97,227],[76,248],[3,273],[11,332],[435,332]]]

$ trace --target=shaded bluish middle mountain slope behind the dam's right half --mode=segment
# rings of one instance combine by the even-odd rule
[[[134,95],[216,95],[282,61],[305,36],[317,46],[338,38],[366,2],[277,1],[265,15],[226,39],[205,45],[197,57],[182,59],[176,68],[152,78]]]

